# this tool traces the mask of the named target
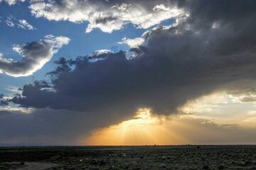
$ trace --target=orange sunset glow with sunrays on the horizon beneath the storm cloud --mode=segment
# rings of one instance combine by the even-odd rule
[[[173,145],[185,142],[179,135],[166,129],[166,118],[152,115],[147,108],[139,109],[134,119],[109,128],[96,130],[83,140],[85,145]],[[172,121],[178,125],[178,122]],[[176,126],[175,125],[175,126]]]

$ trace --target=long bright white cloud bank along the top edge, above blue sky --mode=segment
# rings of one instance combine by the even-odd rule
[[[137,28],[149,28],[161,21],[183,18],[186,12],[175,5],[165,6],[157,4],[138,4],[131,1],[130,4],[106,3],[102,1],[31,1],[31,13],[38,17],[47,18],[50,21],[70,21],[82,23],[88,21],[86,33],[95,28],[100,28],[105,33],[123,28],[127,23],[132,23]]]

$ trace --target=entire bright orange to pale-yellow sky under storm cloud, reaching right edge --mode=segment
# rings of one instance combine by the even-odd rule
[[[255,107],[237,96],[212,94],[186,103],[183,114],[161,116],[141,108],[131,120],[77,141],[78,145],[255,144]]]

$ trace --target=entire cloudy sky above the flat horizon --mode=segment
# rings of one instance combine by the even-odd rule
[[[256,1],[0,0],[0,145],[256,144]]]

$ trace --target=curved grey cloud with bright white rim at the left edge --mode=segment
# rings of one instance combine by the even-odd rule
[[[14,45],[13,50],[22,56],[20,61],[8,60],[0,55],[0,73],[12,77],[24,77],[41,69],[49,62],[60,47],[67,45],[69,38],[46,35],[44,40],[38,40],[23,45]]]

